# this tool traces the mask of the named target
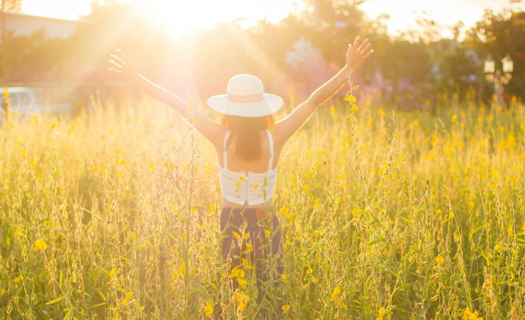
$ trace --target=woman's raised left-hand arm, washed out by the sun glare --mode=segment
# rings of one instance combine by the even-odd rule
[[[178,111],[182,117],[184,117],[188,122],[190,104],[185,102],[183,99],[180,99],[177,95],[171,93],[169,90],[157,86],[157,84],[143,77],[139,70],[137,70],[136,65],[132,60],[127,58],[127,56],[120,51],[116,50],[115,54],[111,54],[111,64],[110,71],[123,74],[127,79],[130,79],[140,88],[142,88],[146,93],[159,100],[160,102],[171,106],[173,109]],[[200,131],[208,140],[210,140],[215,147],[219,149],[222,147],[222,138],[224,136],[224,127],[218,122],[207,118],[197,109],[193,109],[195,127]]]

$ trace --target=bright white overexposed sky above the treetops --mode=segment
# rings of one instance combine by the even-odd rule
[[[166,27],[173,32],[183,33],[189,29],[212,28],[217,22],[236,17],[244,17],[248,21],[266,17],[271,22],[279,22],[294,9],[296,1],[148,0],[147,3]],[[91,0],[23,0],[22,11],[30,15],[77,19],[81,15],[88,15],[90,3]],[[398,35],[400,31],[415,27],[416,15],[421,15],[423,11],[439,24],[453,26],[461,20],[469,27],[483,17],[485,8],[497,12],[508,6],[508,3],[509,0],[368,0],[361,5],[361,10],[371,18],[390,15],[388,33]],[[514,5],[514,8],[525,10],[525,3]],[[444,29],[442,35],[448,37],[450,32]]]

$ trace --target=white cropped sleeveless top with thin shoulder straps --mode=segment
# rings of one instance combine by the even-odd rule
[[[226,153],[226,143],[230,136],[230,131],[224,135],[224,168],[219,166],[219,177],[221,179],[222,196],[237,205],[260,205],[272,199],[274,194],[275,182],[277,179],[277,168],[272,168],[274,163],[274,140],[272,133],[266,129],[269,142],[268,170],[265,173],[235,172],[228,170],[228,154]]]

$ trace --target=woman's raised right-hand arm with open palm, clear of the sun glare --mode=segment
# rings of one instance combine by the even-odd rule
[[[274,137],[278,147],[282,147],[290,136],[308,120],[313,111],[345,84],[350,70],[359,68],[366,58],[373,54],[373,50],[371,50],[372,45],[368,42],[368,39],[365,39],[361,44],[359,42],[360,38],[358,36],[354,41],[354,45],[349,45],[346,53],[346,65],[334,77],[331,77],[331,79],[313,91],[310,97],[299,104],[290,115],[276,123]]]

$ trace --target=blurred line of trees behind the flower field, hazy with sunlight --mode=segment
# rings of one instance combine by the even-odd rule
[[[279,24],[265,20],[242,29],[237,22],[211,30],[191,31],[177,38],[155,27],[137,3],[93,4],[88,24],[79,24],[68,39],[49,39],[44,31],[31,36],[6,36],[2,56],[8,81],[117,80],[107,72],[115,48],[134,57],[141,72],[182,97],[222,93],[237,73],[263,79],[266,90],[304,97],[344,63],[348,43],[356,35],[370,38],[375,54],[356,74],[363,93],[413,108],[429,104],[437,93],[464,95],[474,88],[478,98],[492,96],[483,74],[483,59],[514,61],[508,95],[523,97],[525,13],[487,11],[467,36],[440,39],[431,20],[405,37],[386,34],[384,17],[366,19],[362,1],[304,0],[305,10]],[[302,41],[302,44],[301,42]],[[311,54],[301,56],[307,48]],[[501,66],[499,66],[501,67]]]

